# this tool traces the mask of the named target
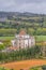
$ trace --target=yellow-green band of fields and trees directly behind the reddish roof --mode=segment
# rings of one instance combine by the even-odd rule
[[[46,28],[17,28],[17,29],[0,29],[0,37],[15,37],[16,33],[19,33],[21,29],[26,29],[28,34],[31,36],[46,36]]]

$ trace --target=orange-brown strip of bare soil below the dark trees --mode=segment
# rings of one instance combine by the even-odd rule
[[[14,70],[20,70],[20,69],[28,69],[34,66],[42,66],[46,65],[46,59],[31,59],[31,60],[22,60],[17,62],[9,62],[4,65],[0,65],[1,67],[14,69]]]

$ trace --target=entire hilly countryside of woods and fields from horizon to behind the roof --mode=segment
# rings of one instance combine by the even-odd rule
[[[18,33],[20,29],[26,29],[27,33],[31,36],[46,36],[46,15],[31,13],[4,14],[6,15],[6,17],[4,16],[5,20],[3,22],[2,19],[2,22],[0,22],[0,37],[14,36],[15,33]]]

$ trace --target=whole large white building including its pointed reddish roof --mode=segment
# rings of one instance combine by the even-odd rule
[[[12,45],[18,48],[31,47],[35,45],[35,39],[27,34],[25,30],[21,30],[18,34],[15,34]]]

